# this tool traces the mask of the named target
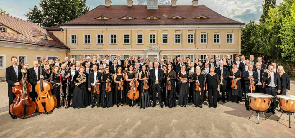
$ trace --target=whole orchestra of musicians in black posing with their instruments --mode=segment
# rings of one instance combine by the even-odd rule
[[[78,61],[65,57],[62,63],[58,58],[55,61],[44,58],[34,60],[33,67],[28,68],[28,63],[18,65],[19,59],[13,56],[12,66],[6,68],[9,114],[13,119],[17,118],[12,112],[12,109],[16,109],[11,104],[23,97],[29,102],[36,102],[35,112],[41,112],[37,109],[45,110],[47,105],[44,99],[48,95],[56,98],[53,100],[56,108],[66,105],[66,108],[78,109],[90,105],[91,108],[109,108],[124,105],[133,107],[136,104],[145,109],[156,106],[157,95],[161,108],[163,105],[170,108],[177,105],[186,107],[191,102],[195,107],[202,108],[205,98],[208,98],[209,108],[216,108],[219,100],[223,103],[225,100],[239,103],[245,96],[246,110],[250,110],[247,93],[275,96],[285,95],[290,90],[289,75],[282,66],[277,67],[275,62],[264,64],[262,57],[254,61],[253,55],[249,59],[236,55],[234,60],[231,55],[222,60],[219,60],[219,55],[215,55],[215,58],[206,56],[204,62],[198,58],[167,57],[166,63],[163,59],[158,61],[157,57],[145,60],[133,55],[129,57],[121,59],[121,55],[117,55],[113,62],[108,55],[104,59],[93,56],[92,60],[86,57]],[[47,91],[42,96],[41,91],[47,90],[46,82],[51,92]],[[26,87],[20,88],[29,92],[28,96],[16,96],[23,94],[16,94],[15,87],[24,83],[32,86],[30,92],[23,90]],[[40,101],[41,104],[37,105]],[[28,102],[25,104],[24,110],[32,107],[27,107]],[[275,114],[277,107],[278,103],[274,100],[267,113]],[[27,114],[24,111],[24,115]]]

